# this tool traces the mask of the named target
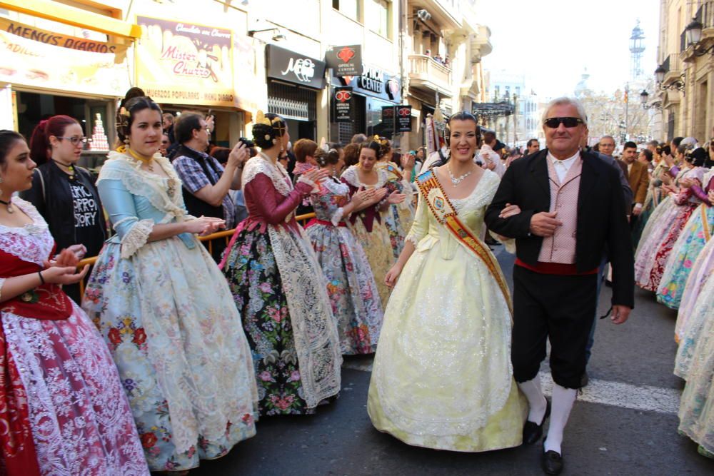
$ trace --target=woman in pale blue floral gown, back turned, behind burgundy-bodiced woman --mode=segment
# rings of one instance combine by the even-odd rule
[[[358,191],[350,200],[348,186],[335,178],[341,166],[338,151],[318,149],[315,158],[331,177],[310,196],[316,218],[307,224],[305,233],[327,278],[342,354],[373,353],[382,326],[382,304],[362,245],[346,218],[361,203],[375,202],[374,190]]]

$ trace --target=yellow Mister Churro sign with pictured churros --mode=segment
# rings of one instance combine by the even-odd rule
[[[137,84],[154,101],[234,106],[231,30],[138,16]]]

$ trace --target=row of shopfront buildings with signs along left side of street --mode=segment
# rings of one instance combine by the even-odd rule
[[[166,111],[214,114],[223,146],[262,110],[293,141],[368,133],[416,148],[428,114],[484,100],[491,32],[476,19],[476,0],[0,0],[0,127],[29,135],[65,113],[86,136],[101,120],[111,144],[118,101],[139,86]],[[328,66],[339,51],[360,74]],[[395,130],[399,105],[411,131]]]

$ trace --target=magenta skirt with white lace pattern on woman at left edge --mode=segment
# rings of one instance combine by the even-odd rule
[[[29,396],[41,474],[148,475],[116,367],[84,312],[74,305],[65,320],[2,313],[1,325],[4,357],[19,372],[5,385]]]

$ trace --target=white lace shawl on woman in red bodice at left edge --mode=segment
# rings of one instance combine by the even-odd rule
[[[0,225],[0,250],[44,267],[54,247],[47,223],[31,203],[14,197],[12,204],[24,211],[32,223],[22,227]]]

